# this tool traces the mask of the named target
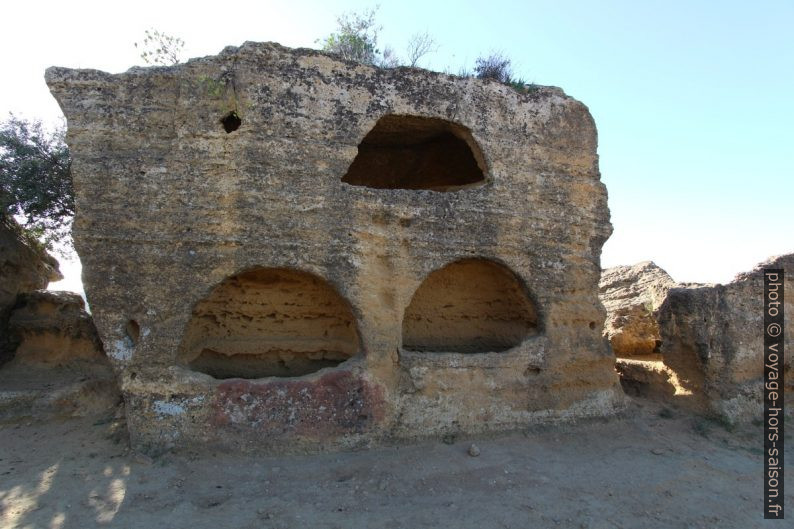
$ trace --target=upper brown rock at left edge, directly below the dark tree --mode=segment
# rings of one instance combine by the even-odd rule
[[[58,261],[28,241],[12,219],[0,214],[0,365],[13,358],[18,345],[8,328],[17,296],[46,288],[50,281],[62,277]]]

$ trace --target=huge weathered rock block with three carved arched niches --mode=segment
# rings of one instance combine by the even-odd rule
[[[596,129],[560,89],[255,43],[46,79],[136,447],[352,446],[622,405]]]

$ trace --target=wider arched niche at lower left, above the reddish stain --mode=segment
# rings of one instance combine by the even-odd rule
[[[257,268],[226,279],[196,305],[179,357],[219,379],[295,377],[358,350],[353,313],[326,281]]]

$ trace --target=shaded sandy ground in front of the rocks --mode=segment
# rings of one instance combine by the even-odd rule
[[[0,526],[791,527],[762,519],[759,428],[662,410],[637,400],[618,419],[453,444],[154,460],[108,417],[3,424]]]

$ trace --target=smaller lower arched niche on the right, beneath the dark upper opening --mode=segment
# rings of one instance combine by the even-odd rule
[[[485,259],[465,259],[432,272],[403,316],[408,351],[506,351],[537,332],[538,313],[521,281]]]

